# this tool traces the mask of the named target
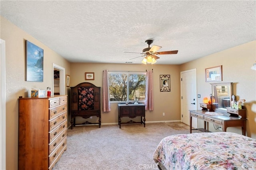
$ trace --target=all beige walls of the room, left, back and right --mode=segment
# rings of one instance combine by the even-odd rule
[[[66,74],[70,75],[70,86],[88,81],[84,80],[84,72],[94,72],[95,80],[88,82],[102,86],[104,69],[144,71],[153,68],[154,111],[146,111],[146,122],[180,120],[180,71],[197,69],[197,91],[203,98],[211,93],[210,84],[204,80],[204,68],[222,65],[223,82],[234,82],[234,94],[238,99],[246,99],[247,134],[256,138],[256,71],[250,69],[256,60],[256,41],[182,65],[69,63],[5,18],[1,17],[0,24],[0,38],[6,41],[6,168],[8,170],[18,169],[18,97],[27,96],[27,91],[31,88],[46,90],[46,87],[52,86],[52,63],[66,69]],[[44,49],[44,82],[25,81],[25,40]],[[170,74],[171,92],[160,92],[160,74]],[[69,94],[70,88],[66,87],[65,92]],[[198,109],[201,109],[199,103],[202,98],[198,98]],[[165,116],[162,116],[163,112]],[[117,122],[117,104],[113,103],[109,113],[102,113],[102,123]],[[201,125],[202,122],[198,124]],[[213,128],[212,125],[210,128]],[[241,133],[238,128],[228,128],[228,131]]]

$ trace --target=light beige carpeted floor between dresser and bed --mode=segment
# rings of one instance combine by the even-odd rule
[[[193,131],[194,132],[194,131]],[[180,122],[77,126],[68,129],[68,149],[53,170],[153,170],[161,139],[189,133]]]

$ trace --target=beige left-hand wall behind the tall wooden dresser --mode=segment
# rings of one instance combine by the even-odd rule
[[[18,98],[28,90],[52,87],[52,63],[70,74],[70,63],[22,29],[1,17],[0,38],[6,45],[6,169],[18,169]],[[25,40],[44,49],[44,82],[25,81]],[[68,88],[66,88],[66,94]]]

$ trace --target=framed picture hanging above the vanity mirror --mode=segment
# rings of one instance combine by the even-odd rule
[[[222,65],[205,69],[205,82],[222,81]]]

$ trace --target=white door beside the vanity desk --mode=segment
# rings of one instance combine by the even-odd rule
[[[181,77],[181,116],[182,122],[190,125],[189,110],[197,109],[196,69],[180,72]],[[197,119],[193,117],[192,127],[197,128]]]

